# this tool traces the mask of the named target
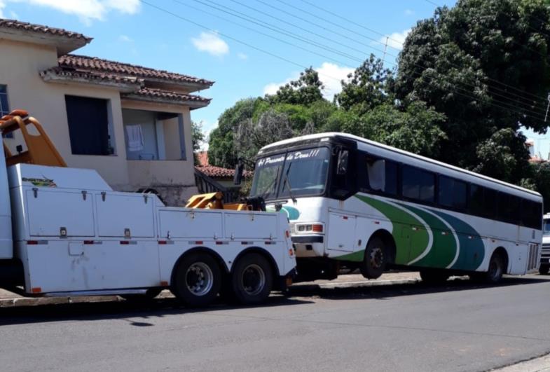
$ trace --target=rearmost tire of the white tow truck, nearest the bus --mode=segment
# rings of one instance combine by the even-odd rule
[[[239,303],[255,305],[268,298],[273,286],[273,270],[258,253],[242,256],[231,274],[231,292]]]

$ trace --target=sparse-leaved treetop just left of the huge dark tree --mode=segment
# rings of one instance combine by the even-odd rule
[[[366,113],[391,99],[387,88],[392,82],[392,73],[384,69],[383,61],[373,54],[348,78],[350,81],[342,81],[342,92],[334,97],[345,110],[355,108],[359,113]]]

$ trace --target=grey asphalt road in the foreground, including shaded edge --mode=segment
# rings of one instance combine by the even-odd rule
[[[0,309],[4,371],[485,371],[550,352],[550,277],[300,289],[256,308]]]

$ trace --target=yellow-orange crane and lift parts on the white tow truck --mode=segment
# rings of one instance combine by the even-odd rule
[[[34,130],[29,130],[34,127]],[[13,110],[8,115],[0,118],[0,131],[4,137],[8,133],[20,130],[25,147],[17,146],[17,153],[12,153],[6,142],[4,154],[6,165],[29,163],[35,165],[49,165],[51,167],[67,167],[59,151],[55,148],[50,137],[46,134],[39,120],[29,116],[25,110]],[[35,132],[37,134],[32,134]],[[231,209],[235,211],[262,210],[262,203],[251,200],[245,203],[224,203],[224,195],[221,192],[193,195],[186,204],[187,208],[194,209]]]

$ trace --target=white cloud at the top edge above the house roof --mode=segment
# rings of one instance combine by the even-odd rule
[[[8,2],[52,8],[65,14],[76,15],[87,25],[93,20],[104,20],[111,11],[135,14],[140,8],[139,0],[0,0],[0,9]]]

